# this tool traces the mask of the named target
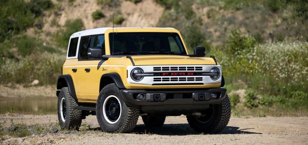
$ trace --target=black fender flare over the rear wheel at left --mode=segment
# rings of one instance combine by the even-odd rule
[[[68,91],[70,92],[71,96],[75,99],[77,99],[76,92],[75,92],[75,86],[73,79],[71,75],[60,75],[58,77],[57,82],[57,90],[61,90],[63,87],[68,87]],[[57,96],[59,97],[60,91],[57,91]]]

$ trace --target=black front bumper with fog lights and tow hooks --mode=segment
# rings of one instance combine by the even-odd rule
[[[220,104],[225,99],[227,90],[224,88],[187,91],[185,89],[175,91],[120,90],[120,93],[128,106],[140,106],[141,113],[175,115],[176,113],[202,111],[207,109],[209,104]],[[213,99],[212,93],[216,93],[217,97]],[[139,99],[139,94],[144,94],[145,98]],[[160,95],[160,100],[153,99],[154,95]]]

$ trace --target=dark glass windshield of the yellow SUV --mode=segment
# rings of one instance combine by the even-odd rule
[[[186,54],[177,33],[166,32],[125,32],[110,33],[109,43],[112,54]],[[114,42],[112,40],[114,39]]]

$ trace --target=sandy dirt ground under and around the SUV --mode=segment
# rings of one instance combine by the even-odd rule
[[[57,115],[0,115],[5,126],[11,119],[14,123],[48,125],[56,122]],[[308,144],[308,117],[231,117],[220,134],[194,132],[183,115],[167,117],[160,128],[145,127],[140,117],[136,128],[123,134],[99,131],[96,116],[88,116],[83,124],[90,129],[32,135],[20,144]],[[18,144],[18,139],[6,136],[2,143]]]

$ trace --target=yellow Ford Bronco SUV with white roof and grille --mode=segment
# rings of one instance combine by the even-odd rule
[[[166,116],[186,115],[197,132],[218,133],[231,107],[214,56],[188,54],[174,28],[97,28],[71,35],[58,78],[61,127],[78,129],[96,115],[102,131],[129,132],[139,116],[160,127]]]

